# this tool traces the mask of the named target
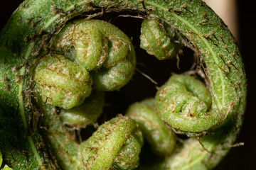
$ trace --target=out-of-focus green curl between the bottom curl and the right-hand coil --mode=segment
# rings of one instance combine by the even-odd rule
[[[167,156],[173,152],[176,137],[157,114],[154,98],[132,104],[126,115],[138,123],[143,137],[155,154]]]

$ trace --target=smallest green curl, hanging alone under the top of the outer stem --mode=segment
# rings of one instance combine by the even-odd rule
[[[165,23],[156,18],[149,18],[142,23],[140,35],[142,49],[159,60],[171,59],[181,53],[185,38]]]

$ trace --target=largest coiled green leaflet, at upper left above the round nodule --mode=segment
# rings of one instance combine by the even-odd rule
[[[118,90],[134,74],[136,57],[131,40],[105,21],[68,23],[53,38],[53,50],[92,71],[93,86],[100,91]]]

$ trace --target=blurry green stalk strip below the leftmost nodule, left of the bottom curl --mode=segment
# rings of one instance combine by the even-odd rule
[[[75,140],[75,132],[65,128],[57,108],[46,105],[43,112],[43,125],[47,129],[43,137],[58,162],[54,169],[82,169],[80,146]]]

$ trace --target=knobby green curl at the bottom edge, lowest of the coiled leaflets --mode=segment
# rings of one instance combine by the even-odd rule
[[[82,162],[85,169],[134,169],[142,145],[142,132],[134,120],[113,118],[82,142]]]

